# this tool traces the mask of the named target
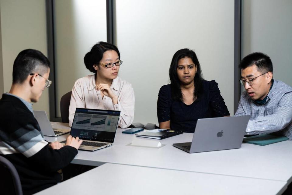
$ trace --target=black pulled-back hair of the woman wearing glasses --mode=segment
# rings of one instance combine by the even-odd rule
[[[87,54],[85,54],[84,64],[86,68],[89,69],[92,73],[96,73],[93,65],[98,65],[100,60],[103,59],[103,53],[109,50],[116,51],[120,59],[120,51],[115,45],[100,41],[95,44]]]

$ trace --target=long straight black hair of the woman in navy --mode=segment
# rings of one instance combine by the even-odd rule
[[[177,65],[179,59],[189,57],[190,59],[193,60],[197,67],[197,73],[194,78],[194,83],[195,83],[195,90],[194,90],[194,99],[199,99],[200,95],[202,94],[202,80],[203,80],[203,74],[201,71],[201,66],[200,62],[196,56],[196,53],[193,50],[190,50],[188,48],[180,49],[179,51],[176,51],[176,53],[172,57],[172,61],[169,67],[169,79],[171,82],[171,93],[172,93],[172,98],[174,100],[181,100],[183,101],[182,98],[182,91],[180,89],[180,80],[179,77],[177,76]]]

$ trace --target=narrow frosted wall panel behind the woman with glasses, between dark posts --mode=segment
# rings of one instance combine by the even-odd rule
[[[61,97],[78,78],[93,74],[83,58],[98,41],[106,41],[106,1],[55,1],[55,70],[57,117]]]

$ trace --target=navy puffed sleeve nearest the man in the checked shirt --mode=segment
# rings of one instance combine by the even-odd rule
[[[228,108],[225,105],[224,99],[220,94],[218,83],[216,83],[215,80],[210,81],[209,90],[210,90],[209,104],[212,108],[212,116],[222,117],[230,115]]]

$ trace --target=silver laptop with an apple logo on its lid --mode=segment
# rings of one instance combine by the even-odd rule
[[[192,142],[173,144],[188,153],[240,148],[249,115],[198,119]]]

